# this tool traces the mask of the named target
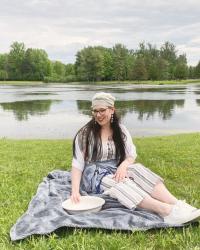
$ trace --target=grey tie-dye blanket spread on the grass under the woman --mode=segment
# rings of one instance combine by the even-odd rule
[[[103,194],[95,194],[106,200],[100,212],[70,215],[62,208],[62,202],[69,198],[70,192],[70,172],[50,172],[39,185],[28,210],[11,228],[11,240],[20,240],[33,234],[48,234],[60,227],[135,231],[170,226],[155,213],[139,208],[127,209],[117,200]],[[87,195],[84,190],[81,190],[81,194]]]

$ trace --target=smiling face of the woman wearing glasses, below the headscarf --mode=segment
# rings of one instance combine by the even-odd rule
[[[114,114],[115,109],[105,106],[97,106],[92,110],[94,119],[100,126],[110,124],[111,115]]]

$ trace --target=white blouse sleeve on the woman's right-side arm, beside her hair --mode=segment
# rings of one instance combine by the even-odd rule
[[[133,144],[133,140],[130,135],[130,132],[123,124],[120,124],[120,127],[122,129],[122,132],[126,135],[126,138],[125,138],[126,157],[133,157],[133,159],[135,160],[137,157],[136,147]]]

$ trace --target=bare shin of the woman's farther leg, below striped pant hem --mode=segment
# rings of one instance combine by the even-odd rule
[[[168,204],[176,204],[177,198],[169,192],[169,190],[166,188],[163,182],[159,181],[151,193],[151,196],[154,199],[157,199],[159,201],[168,203]]]

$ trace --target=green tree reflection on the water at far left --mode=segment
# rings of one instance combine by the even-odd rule
[[[48,114],[52,103],[59,103],[58,100],[31,100],[0,103],[4,111],[12,111],[16,120],[28,120],[29,116],[41,116]]]

